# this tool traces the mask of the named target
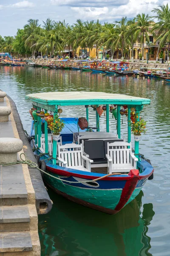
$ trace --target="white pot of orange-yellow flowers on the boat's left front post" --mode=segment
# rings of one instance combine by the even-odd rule
[[[64,122],[59,118],[59,116],[51,117],[47,120],[48,127],[52,131],[53,140],[59,140],[60,132],[64,128]]]

